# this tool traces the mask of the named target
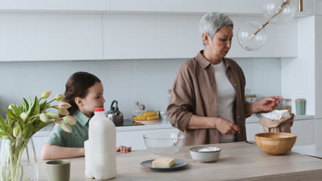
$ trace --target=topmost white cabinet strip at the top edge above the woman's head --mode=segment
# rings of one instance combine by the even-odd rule
[[[149,13],[206,13],[261,14],[261,2],[257,0],[111,0],[110,10],[116,12]]]

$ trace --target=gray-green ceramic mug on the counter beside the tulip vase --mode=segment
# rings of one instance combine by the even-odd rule
[[[51,160],[45,162],[48,181],[69,181],[70,161]]]

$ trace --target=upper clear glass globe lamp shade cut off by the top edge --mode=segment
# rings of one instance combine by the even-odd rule
[[[297,8],[294,4],[294,0],[264,0],[263,2],[262,12],[264,17],[267,20],[270,20],[270,23],[284,24],[294,18],[295,10]],[[285,8],[275,16],[275,14],[279,12],[279,8],[281,8],[283,2],[286,3]],[[272,16],[275,17],[271,19]]]

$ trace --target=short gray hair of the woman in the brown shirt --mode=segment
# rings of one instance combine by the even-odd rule
[[[228,16],[219,12],[208,12],[207,14],[204,14],[200,20],[199,32],[201,36],[204,33],[209,34],[212,39],[220,28],[226,26],[234,27],[233,21]],[[202,41],[204,42],[204,40]]]

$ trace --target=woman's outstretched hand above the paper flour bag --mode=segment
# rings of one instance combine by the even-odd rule
[[[272,111],[275,110],[277,104],[279,104],[279,99],[283,99],[281,96],[272,96],[272,97],[265,97],[260,99],[259,101],[255,101],[252,105],[252,112],[261,112],[261,111]]]

